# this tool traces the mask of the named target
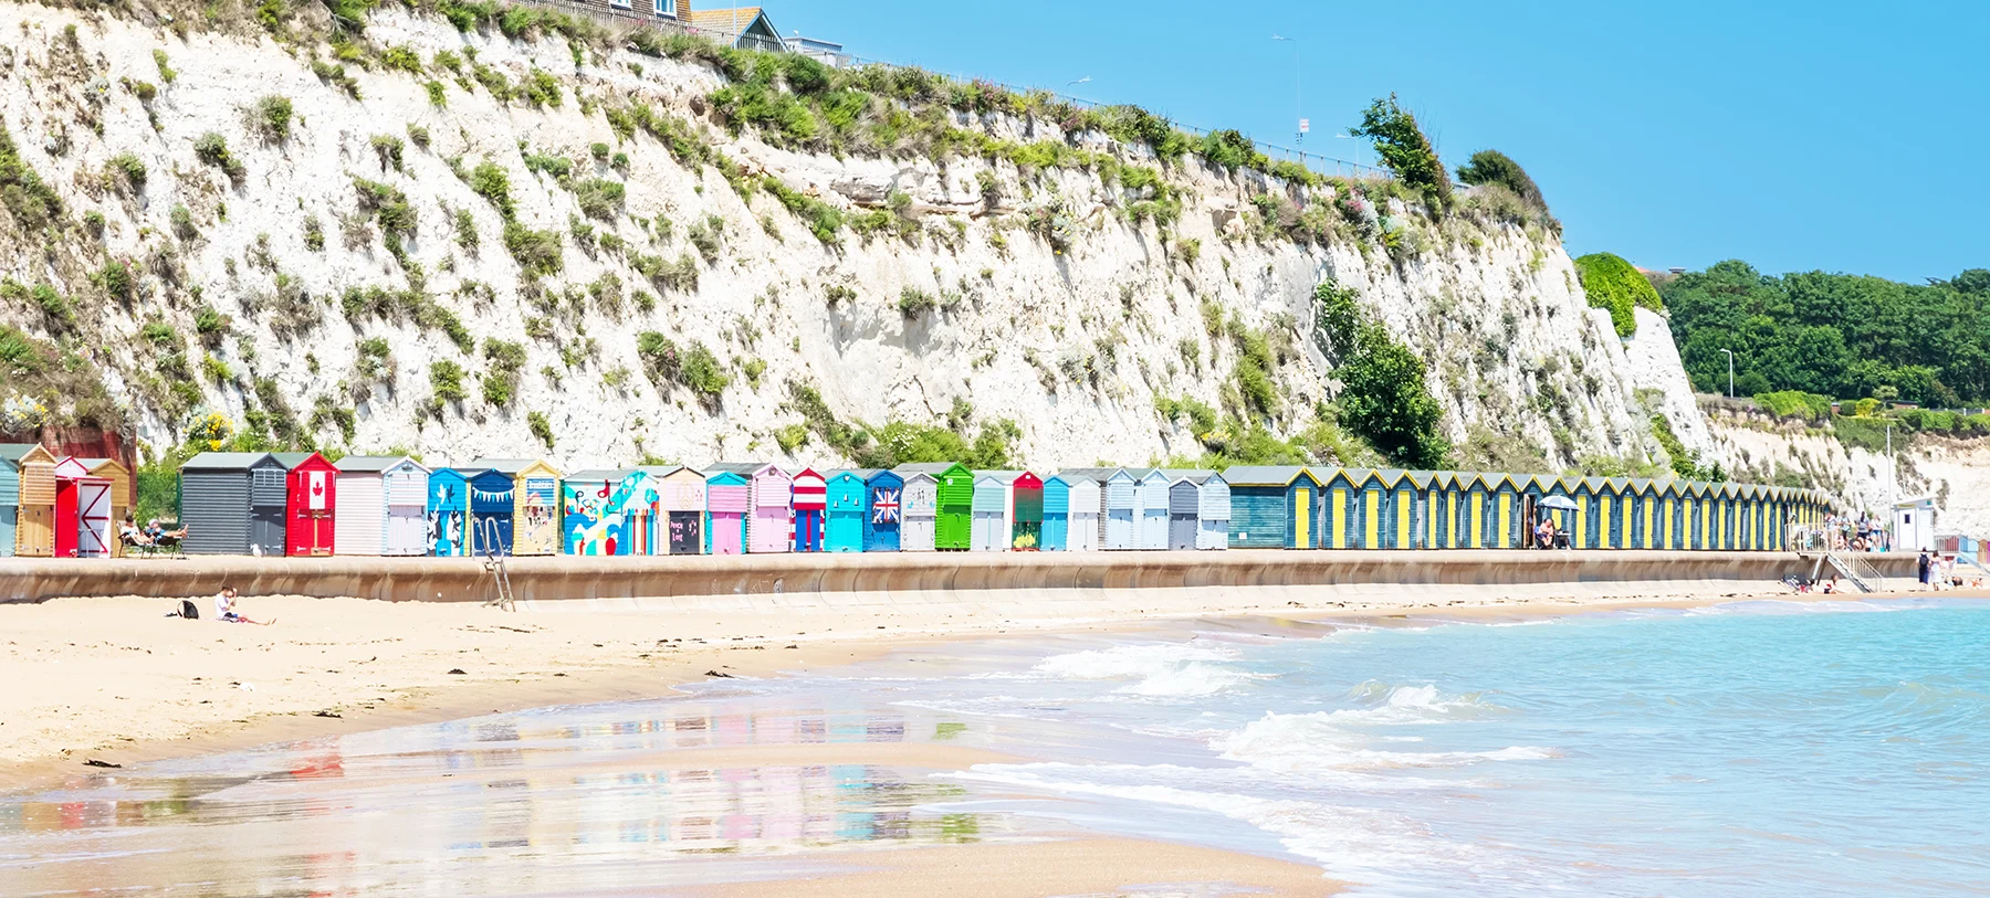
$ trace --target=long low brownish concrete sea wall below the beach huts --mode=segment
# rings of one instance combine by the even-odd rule
[[[1914,556],[1867,556],[1912,580]],[[808,600],[903,604],[1104,598],[1118,592],[1252,590],[1258,598],[1385,594],[1652,594],[1761,590],[1809,576],[1797,552],[1660,550],[1228,550],[1228,552],[905,552],[657,558],[509,558],[519,602],[730,608]],[[356,596],[484,602],[492,574],[474,558],[4,558],[0,602],[66,596]]]

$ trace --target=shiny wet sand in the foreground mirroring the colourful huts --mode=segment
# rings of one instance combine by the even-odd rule
[[[929,759],[951,749],[907,743],[971,755],[959,721],[792,701],[555,707],[109,771],[0,799],[0,894],[599,892],[782,874],[693,856],[1007,834],[999,819],[921,813],[965,795],[927,771],[782,749],[953,767]]]

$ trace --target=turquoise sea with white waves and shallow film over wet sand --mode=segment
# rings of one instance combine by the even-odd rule
[[[818,743],[1013,761],[778,753]],[[0,894],[667,894],[1055,832],[1299,860],[1357,896],[1982,896],[1990,602],[911,646],[4,795]]]

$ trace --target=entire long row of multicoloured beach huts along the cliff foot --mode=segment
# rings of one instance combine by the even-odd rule
[[[1548,499],[1560,497],[1560,499]],[[0,445],[0,544],[119,554],[129,473]],[[770,463],[561,473],[537,459],[201,453],[179,471],[193,554],[746,554],[917,550],[1773,550],[1829,511],[1791,487],[1343,467],[788,471]]]

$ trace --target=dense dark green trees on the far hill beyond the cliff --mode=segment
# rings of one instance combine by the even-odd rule
[[[1666,282],[1672,336],[1695,389],[1887,393],[1936,407],[1990,403],[1990,270],[1902,284],[1857,274],[1765,276],[1727,260]]]

